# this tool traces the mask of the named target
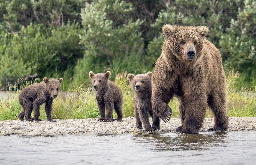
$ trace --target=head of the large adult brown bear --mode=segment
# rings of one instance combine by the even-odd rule
[[[198,60],[204,47],[209,29],[206,26],[164,25],[164,43],[179,60],[191,62]]]

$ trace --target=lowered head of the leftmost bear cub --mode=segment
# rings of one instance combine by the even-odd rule
[[[44,77],[43,81],[45,83],[46,91],[50,94],[52,98],[56,98],[59,94],[60,85],[63,79],[60,78],[59,80],[57,80],[55,78],[50,78],[48,80],[48,78]]]

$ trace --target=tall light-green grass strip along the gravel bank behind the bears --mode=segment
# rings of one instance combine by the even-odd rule
[[[123,91],[123,113],[124,117],[133,116],[132,89],[126,78],[127,72],[117,74],[115,83]],[[227,111],[228,116],[233,117],[256,117],[256,88],[237,89],[236,83],[240,75],[234,70],[229,71],[227,76]],[[65,78],[64,78],[65,79]],[[86,85],[69,84],[68,91],[61,91],[54,99],[52,118],[72,119],[72,118],[95,118],[100,117],[100,113],[95,98],[95,91],[92,84]],[[30,85],[26,84],[25,86]],[[13,88],[10,88],[13,89]],[[14,88],[16,89],[16,88]],[[10,90],[4,97],[0,97],[0,120],[18,119],[18,114],[22,108],[18,100],[19,90]],[[172,117],[179,118],[178,99],[174,97],[169,104],[172,108]],[[32,113],[33,116],[33,113]],[[114,111],[114,118],[117,115]],[[206,117],[213,117],[212,112],[207,110]],[[46,119],[44,105],[40,107],[40,118]]]

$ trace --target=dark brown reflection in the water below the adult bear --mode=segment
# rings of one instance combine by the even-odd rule
[[[176,133],[137,134],[134,140],[152,143],[157,150],[207,150],[208,147],[225,146],[228,133],[199,133],[180,135]]]

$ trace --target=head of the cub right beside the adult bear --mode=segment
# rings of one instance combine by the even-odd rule
[[[133,74],[127,75],[127,78],[134,92],[142,92],[142,91],[151,92],[152,90],[151,77],[152,77],[152,72],[148,72],[147,74],[139,74],[139,75],[133,75]]]

